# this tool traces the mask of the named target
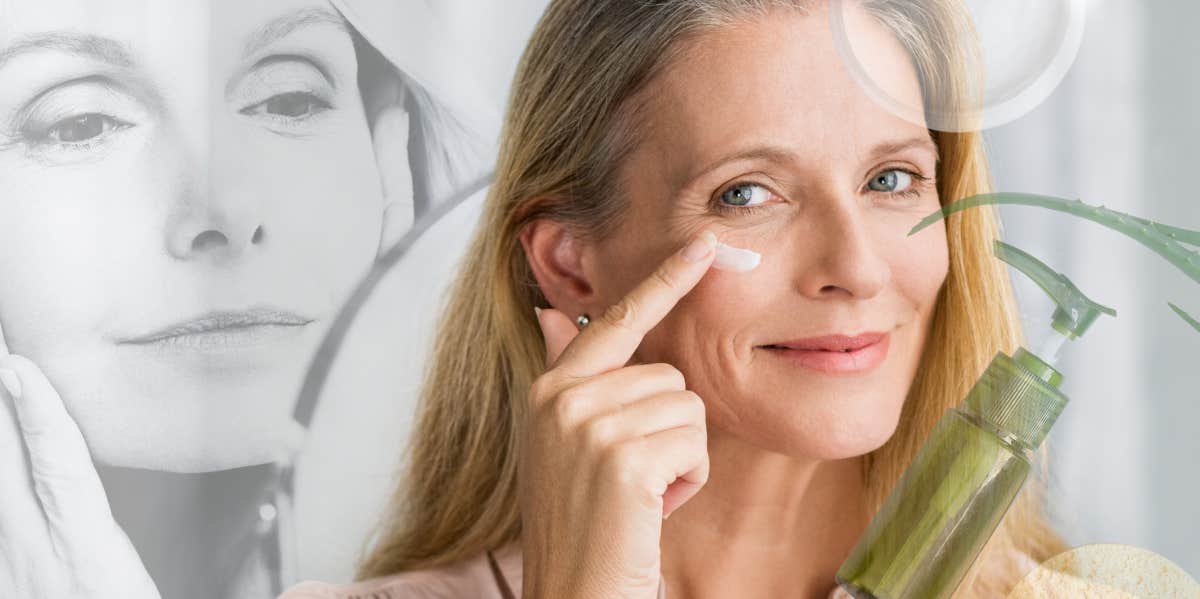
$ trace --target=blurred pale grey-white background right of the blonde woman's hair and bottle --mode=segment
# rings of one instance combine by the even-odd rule
[[[1027,191],[1200,229],[1187,184],[1200,150],[1200,37],[1184,0],[1088,2],[1084,44],[1058,89],[986,133],[1001,191]],[[1002,209],[1006,238],[1117,310],[1063,349],[1072,403],[1050,436],[1051,495],[1073,545],[1123,543],[1200,574],[1200,287],[1150,250],[1091,222]],[[1014,280],[1021,277],[1015,276]],[[1018,280],[1030,339],[1052,312]]]

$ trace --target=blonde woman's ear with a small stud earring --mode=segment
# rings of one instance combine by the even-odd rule
[[[596,304],[588,247],[569,227],[538,218],[521,232],[521,245],[551,307],[574,317]]]

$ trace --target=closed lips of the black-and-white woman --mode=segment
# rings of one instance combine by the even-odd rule
[[[210,312],[150,334],[119,340],[126,346],[178,346],[198,349],[253,346],[290,337],[312,323],[286,310],[259,307],[245,311]]]

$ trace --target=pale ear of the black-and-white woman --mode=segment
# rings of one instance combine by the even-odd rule
[[[383,254],[413,227],[413,168],[408,161],[409,113],[401,103],[380,109],[376,118],[372,142],[379,182],[383,186],[383,230],[379,253]]]

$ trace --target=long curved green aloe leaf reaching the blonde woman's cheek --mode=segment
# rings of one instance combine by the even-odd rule
[[[1200,283],[1200,252],[1189,250],[1180,241],[1189,245],[1200,245],[1200,232],[1170,227],[1166,224],[1139,218],[1124,212],[1110,210],[1104,206],[1085,204],[1079,199],[1064,199],[1052,196],[1038,196],[1034,193],[982,193],[953,202],[942,206],[941,210],[923,218],[910,235],[918,230],[949,216],[953,212],[989,204],[1014,204],[1048,208],[1060,212],[1067,212],[1092,222],[1103,224],[1110,229],[1133,238],[1141,245],[1151,248],[1154,253],[1166,258],[1175,268],[1183,271],[1193,281]]]

